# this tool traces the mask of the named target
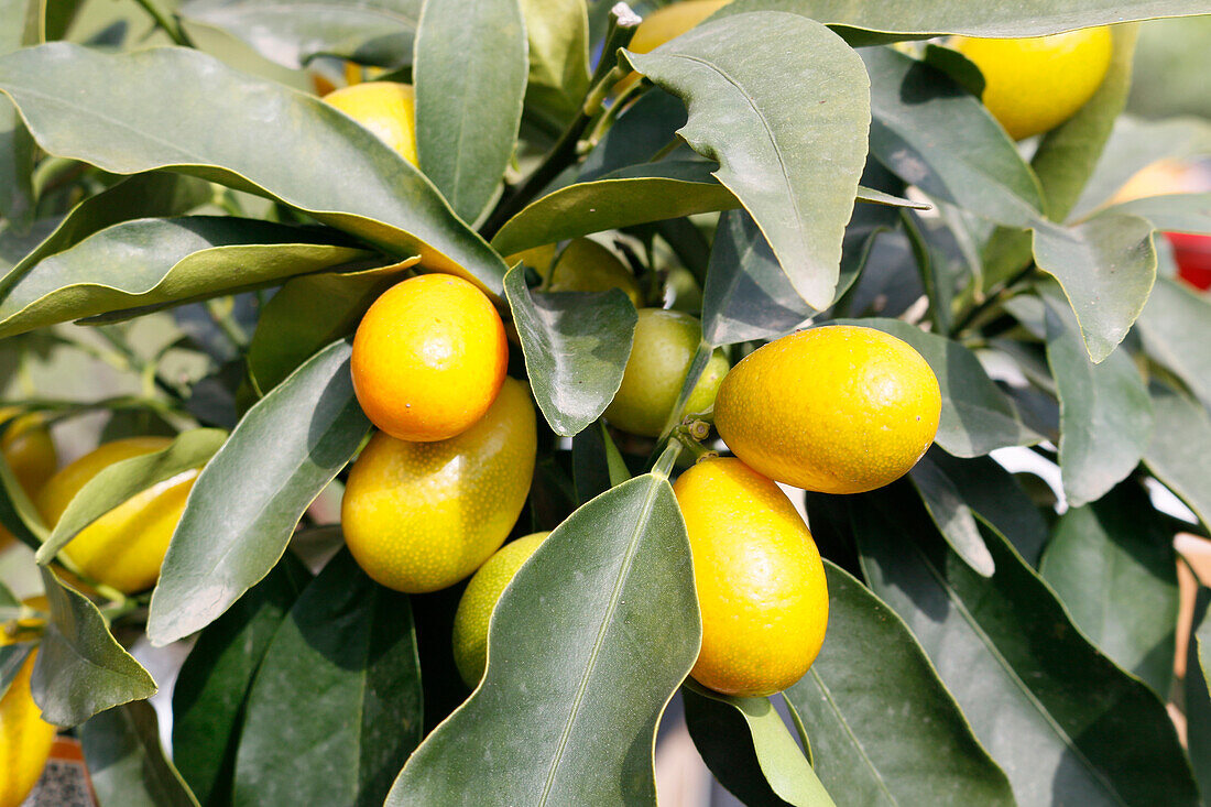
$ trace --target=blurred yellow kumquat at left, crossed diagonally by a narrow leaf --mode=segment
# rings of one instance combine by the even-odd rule
[[[42,521],[53,527],[80,488],[114,463],[161,451],[170,442],[167,437],[115,440],[67,465],[34,499]],[[184,471],[131,497],[85,527],[63,554],[86,577],[125,594],[151,588],[197,473]]]

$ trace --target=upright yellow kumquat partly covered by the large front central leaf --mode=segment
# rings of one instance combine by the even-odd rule
[[[733,457],[705,459],[673,485],[702,611],[690,675],[725,694],[768,696],[803,677],[828,625],[820,553],[779,487]]]

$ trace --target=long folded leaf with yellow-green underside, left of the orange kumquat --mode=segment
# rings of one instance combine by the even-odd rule
[[[225,216],[115,224],[23,263],[0,299],[0,336],[266,286],[374,257],[326,240],[322,230]]]

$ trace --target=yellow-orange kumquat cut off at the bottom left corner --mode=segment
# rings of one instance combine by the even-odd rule
[[[0,626],[2,628],[2,626]],[[0,647],[12,640],[0,629]],[[51,756],[57,728],[42,720],[29,692],[38,651],[25,657],[0,698],[0,807],[18,807],[38,784]]]

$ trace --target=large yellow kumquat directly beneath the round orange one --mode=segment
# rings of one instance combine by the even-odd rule
[[[509,378],[482,420],[441,442],[377,434],[349,473],[345,543],[378,583],[437,591],[477,570],[509,537],[534,476],[534,402]]]

